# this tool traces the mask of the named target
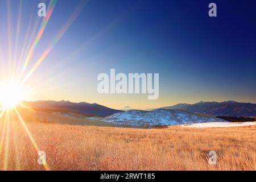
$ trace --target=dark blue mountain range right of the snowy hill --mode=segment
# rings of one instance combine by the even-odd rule
[[[162,109],[180,109],[191,113],[208,114],[230,117],[255,117],[256,104],[224,101],[224,102],[198,102],[196,104],[177,104]]]

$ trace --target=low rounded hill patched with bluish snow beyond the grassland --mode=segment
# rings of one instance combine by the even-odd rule
[[[225,122],[208,115],[193,114],[183,110],[155,109],[152,111],[129,110],[102,119],[105,122],[135,126],[164,126],[200,122]]]

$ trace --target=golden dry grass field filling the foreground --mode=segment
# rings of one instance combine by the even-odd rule
[[[8,126],[8,125],[7,125]],[[125,129],[27,123],[52,170],[255,170],[256,126],[188,129]],[[6,130],[7,131],[7,130]],[[26,131],[9,123],[0,168],[43,170]],[[8,140],[7,140],[8,138]],[[208,152],[217,152],[217,165]]]

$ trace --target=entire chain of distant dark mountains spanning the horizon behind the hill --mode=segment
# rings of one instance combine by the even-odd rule
[[[110,115],[122,112],[123,110],[137,110],[129,106],[123,110],[116,110],[99,104],[89,104],[87,102],[70,102],[70,101],[24,101],[25,105],[35,109],[57,109],[68,110],[81,114],[96,115],[108,117]],[[224,102],[198,102],[196,104],[177,104],[174,106],[162,107],[160,109],[184,110],[190,113],[207,114],[213,116],[230,116],[230,117],[255,117],[256,104],[224,101]],[[150,110],[147,110],[150,111]],[[154,111],[154,109],[153,109]],[[141,111],[142,112],[142,111]]]

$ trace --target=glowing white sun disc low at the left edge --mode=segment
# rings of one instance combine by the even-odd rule
[[[0,105],[2,109],[11,109],[20,101],[26,100],[26,89],[18,82],[0,83]]]

